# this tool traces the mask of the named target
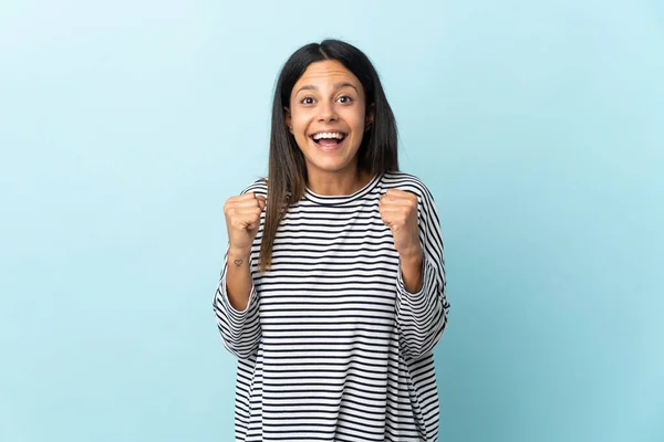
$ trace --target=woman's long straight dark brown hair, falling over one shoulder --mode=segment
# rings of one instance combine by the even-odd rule
[[[279,223],[288,208],[302,199],[308,183],[304,156],[294,136],[287,129],[284,107],[290,105],[293,86],[307,67],[324,60],[336,60],[351,71],[364,88],[367,113],[373,105],[374,122],[357,150],[357,169],[371,176],[398,170],[396,122],[369,57],[352,44],[339,40],[324,40],[320,44],[300,48],[281,69],[272,102],[268,204],[260,244],[260,272],[271,267]]]

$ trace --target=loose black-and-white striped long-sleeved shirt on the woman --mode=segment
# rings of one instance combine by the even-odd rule
[[[404,285],[378,202],[417,194],[423,286]],[[267,194],[260,180],[243,191]],[[350,196],[305,190],[258,272],[264,211],[251,249],[243,312],[226,294],[228,251],[214,297],[225,347],[237,356],[236,441],[437,441],[433,349],[447,324],[439,220],[426,186],[375,176]]]

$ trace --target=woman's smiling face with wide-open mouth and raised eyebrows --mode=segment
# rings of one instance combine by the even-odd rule
[[[286,122],[304,155],[308,172],[356,167],[366,115],[362,83],[335,60],[312,63],[293,86]]]

